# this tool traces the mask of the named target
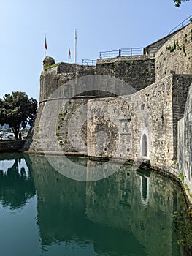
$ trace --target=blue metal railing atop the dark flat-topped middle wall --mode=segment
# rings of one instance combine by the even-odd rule
[[[142,55],[143,48],[120,48],[119,50],[100,51],[99,58],[115,58],[120,56]]]

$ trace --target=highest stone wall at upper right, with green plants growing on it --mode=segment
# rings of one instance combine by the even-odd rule
[[[156,53],[155,80],[169,75],[192,74],[192,23],[178,31]]]

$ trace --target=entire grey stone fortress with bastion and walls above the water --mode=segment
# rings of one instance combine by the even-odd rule
[[[141,56],[98,59],[96,66],[46,57],[25,149],[150,160],[182,174],[192,193],[191,83],[191,23]]]

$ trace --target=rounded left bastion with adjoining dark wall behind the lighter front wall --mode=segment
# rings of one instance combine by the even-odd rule
[[[96,67],[66,63],[45,67],[40,78],[40,103],[32,143],[26,143],[26,149],[86,152],[86,123],[78,135],[77,131],[69,135],[69,127],[77,127],[77,121],[86,116],[86,109],[81,108],[88,99],[133,94],[154,81],[154,56],[122,57],[112,65],[114,75],[111,66],[101,61]]]

